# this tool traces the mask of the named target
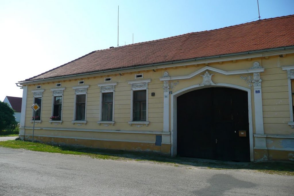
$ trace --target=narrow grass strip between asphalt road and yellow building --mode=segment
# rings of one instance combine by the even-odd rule
[[[191,169],[191,166],[204,167],[205,169],[247,169],[256,172],[264,172],[277,175],[294,176],[294,161],[266,161],[253,163],[234,163],[212,160],[199,160],[194,158],[175,157],[146,152],[129,152],[123,150],[106,150],[96,148],[85,148],[80,146],[50,145],[37,142],[27,142],[21,140],[9,140],[0,142],[0,147],[26,149],[40,152],[61,153],[68,155],[88,156],[98,159],[110,160],[135,160],[151,161],[156,164],[167,164],[175,167]]]

